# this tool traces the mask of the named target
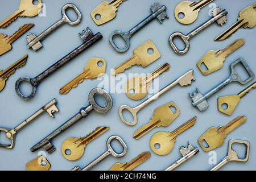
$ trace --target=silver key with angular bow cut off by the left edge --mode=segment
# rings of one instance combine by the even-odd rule
[[[10,144],[1,144],[0,143],[0,147],[12,149],[15,144],[16,133],[18,133],[19,130],[23,129],[24,126],[27,126],[28,123],[34,121],[35,118],[39,117],[39,115],[43,114],[44,112],[47,112],[52,118],[54,118],[53,113],[59,111],[59,109],[57,109],[57,107],[55,105],[56,103],[57,103],[57,101],[55,99],[53,99],[51,102],[49,102],[48,104],[43,106],[41,109],[36,111],[30,117],[25,119],[22,123],[20,123],[14,129],[0,128],[0,132],[1,131],[5,132],[6,137],[8,139],[10,139]]]

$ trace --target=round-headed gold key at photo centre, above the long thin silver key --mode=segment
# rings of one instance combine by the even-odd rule
[[[152,81],[163,72],[169,71],[169,69],[170,64],[166,63],[146,77],[135,76],[131,78],[125,86],[126,95],[132,100],[141,100],[146,97]]]

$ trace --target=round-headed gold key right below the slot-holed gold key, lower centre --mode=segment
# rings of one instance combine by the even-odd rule
[[[188,122],[184,123],[172,132],[159,131],[158,133],[155,133],[150,139],[151,150],[158,155],[169,154],[172,151],[172,148],[174,148],[177,135],[183,133],[195,125],[196,118],[196,116],[193,117]]]

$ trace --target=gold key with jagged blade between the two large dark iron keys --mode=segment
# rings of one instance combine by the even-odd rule
[[[68,94],[72,88],[76,88],[85,79],[101,77],[106,71],[106,61],[101,58],[92,57],[84,67],[84,72],[68,82],[60,89],[60,94]]]

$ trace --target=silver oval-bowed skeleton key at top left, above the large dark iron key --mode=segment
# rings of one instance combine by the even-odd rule
[[[75,11],[75,13],[77,14],[77,19],[75,21],[72,21],[71,19],[68,18],[67,14],[66,14],[66,10],[68,8],[72,8]],[[64,23],[68,23],[69,25],[74,26],[74,25],[80,23],[81,18],[82,18],[80,11],[73,4],[64,5],[61,10],[61,13],[63,15],[63,18],[61,18],[59,21],[54,23],[51,27],[47,28],[47,30],[45,30],[39,36],[36,37],[35,34],[32,34],[32,33],[30,33],[30,35],[27,35],[27,42],[28,42],[27,48],[29,48],[29,49],[32,48],[34,51],[38,51],[38,49],[43,47],[43,44],[40,41],[43,40],[44,38],[46,38],[47,35],[49,35],[53,31],[55,31],[57,28],[59,28]]]

